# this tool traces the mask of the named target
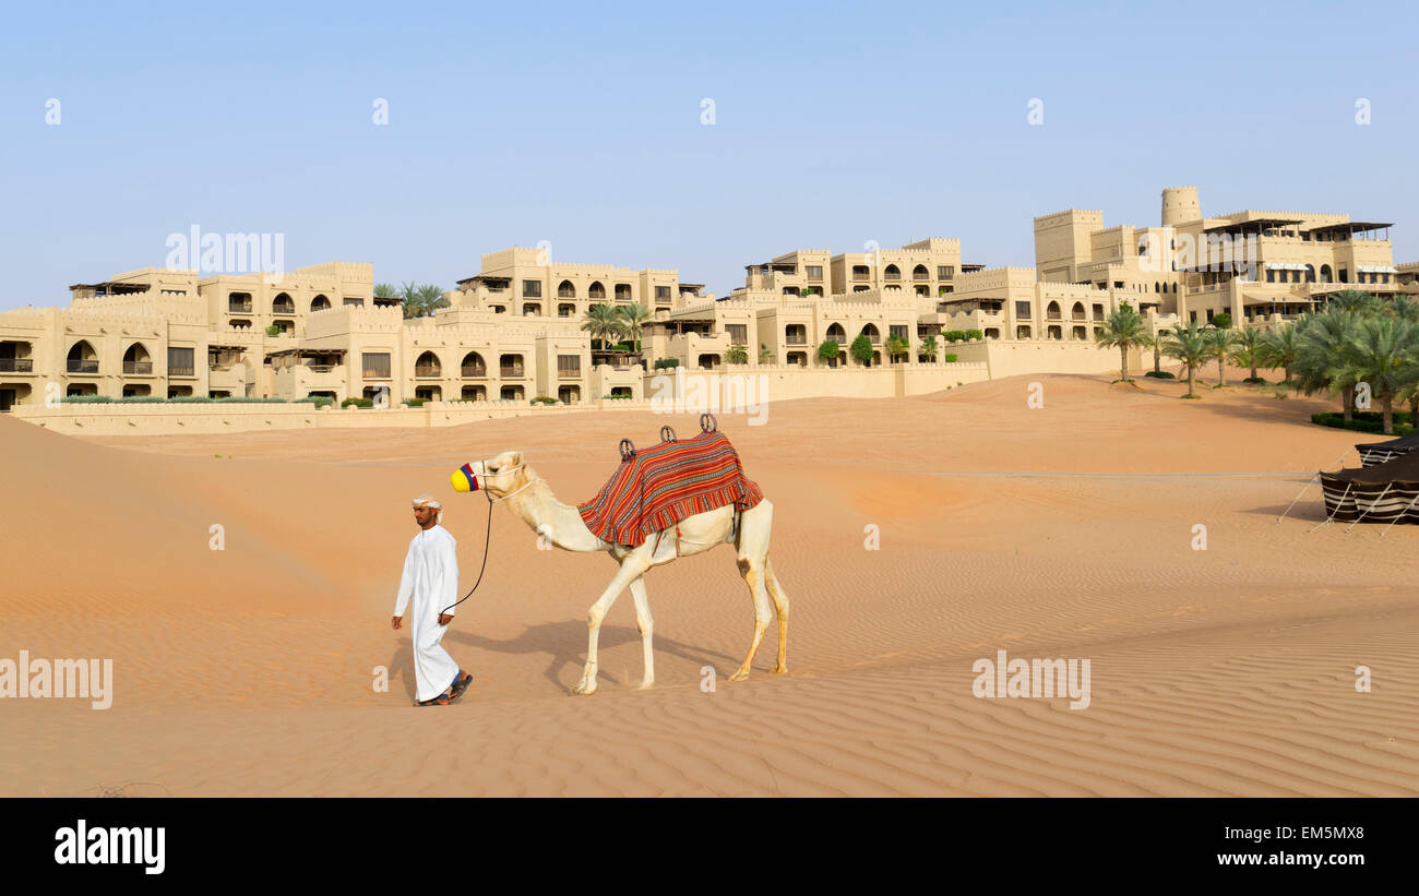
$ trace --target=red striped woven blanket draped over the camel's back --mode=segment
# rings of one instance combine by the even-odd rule
[[[576,509],[596,537],[634,547],[695,513],[728,503],[748,510],[762,499],[759,486],[744,476],[734,445],[712,431],[636,451],[596,498]]]

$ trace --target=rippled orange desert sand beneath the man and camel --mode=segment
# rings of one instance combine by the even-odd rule
[[[0,658],[115,675],[106,710],[0,700],[0,794],[1419,793],[1419,529],[1308,532],[1318,488],[1277,523],[1362,438],[1307,422],[1328,401],[1111,379],[722,414],[776,505],[788,675],[771,629],[752,678],[727,681],[752,605],[719,547],[647,576],[656,689],[634,690],[623,595],[600,690],[572,696],[614,567],[539,551],[495,508],[484,584],[444,638],[475,683],[430,709],[389,627],[410,496],[448,499],[467,588],[488,505],[451,492],[458,464],[518,448],[578,503],[619,438],[691,417],[105,444],[0,418]],[[998,649],[1088,658],[1090,706],[972,696]]]

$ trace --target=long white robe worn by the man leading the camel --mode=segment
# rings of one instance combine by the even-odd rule
[[[438,624],[438,612],[458,600],[458,556],[455,542],[443,526],[420,529],[409,543],[404,574],[399,578],[399,598],[394,615],[404,615],[409,598],[414,598],[413,624],[414,678],[420,700],[430,700],[458,676],[458,663],[440,646],[447,625]],[[454,611],[448,610],[448,615]]]

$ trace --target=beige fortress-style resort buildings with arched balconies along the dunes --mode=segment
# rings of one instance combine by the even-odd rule
[[[1172,187],[1158,227],[1105,228],[1100,211],[1076,208],[1034,218],[1033,268],[964,264],[959,240],[942,238],[796,250],[745,265],[745,285],[719,299],[673,269],[561,264],[514,247],[482,255],[480,272],[444,293],[448,308],[414,319],[373,295],[369,264],[284,276],[142,268],[72,285],[68,308],[0,313],[0,410],[47,393],[576,404],[643,397],[658,359],[724,370],[734,346],[755,369],[860,366],[847,352],[858,335],[873,346],[868,367],[898,370],[945,367],[955,352],[989,357],[949,345],[922,354],[925,339],[949,330],[981,330],[992,352],[1087,353],[1122,302],[1156,330],[1222,310],[1237,325],[1291,319],[1338,289],[1419,292],[1419,262],[1393,265],[1388,227],[1344,214],[1203,217],[1195,187]],[[644,367],[592,352],[582,323],[596,303],[651,310]],[[905,353],[887,354],[893,336]],[[830,340],[839,352],[824,360]],[[1037,357],[1010,369],[1056,363]]]

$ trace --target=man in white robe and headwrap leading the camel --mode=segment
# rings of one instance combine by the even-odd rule
[[[414,498],[414,522],[419,523],[419,534],[409,543],[409,554],[404,557],[404,574],[399,578],[392,625],[399,629],[409,598],[413,597],[417,706],[447,706],[461,698],[473,682],[473,675],[460,669],[438,644],[453,621],[453,604],[458,601],[457,543],[440,526],[443,505],[433,495]]]

